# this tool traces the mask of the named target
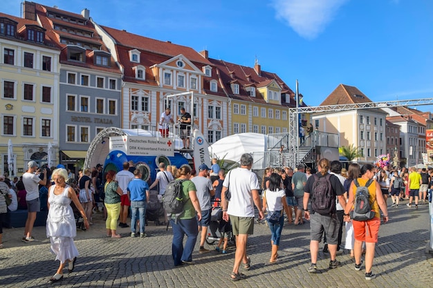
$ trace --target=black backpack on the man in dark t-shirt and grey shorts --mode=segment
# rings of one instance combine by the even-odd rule
[[[313,192],[311,198],[311,209],[320,215],[331,215],[335,212],[335,195],[332,193],[331,174],[319,177],[313,174]]]

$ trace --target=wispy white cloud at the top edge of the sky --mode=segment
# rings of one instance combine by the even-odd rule
[[[277,18],[283,19],[297,34],[314,39],[349,0],[273,0]]]

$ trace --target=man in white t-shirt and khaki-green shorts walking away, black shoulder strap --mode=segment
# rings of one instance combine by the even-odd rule
[[[259,220],[264,218],[261,210],[259,196],[259,181],[257,175],[251,171],[252,156],[245,153],[241,156],[241,167],[231,170],[223,182],[221,191],[221,204],[223,207],[223,220],[232,222],[233,234],[236,236],[236,253],[231,274],[232,280],[246,278],[239,273],[239,266],[243,262],[243,268],[250,269],[250,258],[246,254],[248,234],[254,231],[254,205],[259,209]],[[225,200],[225,191],[229,189],[231,197]]]

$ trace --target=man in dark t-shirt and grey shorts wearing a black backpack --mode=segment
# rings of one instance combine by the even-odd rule
[[[340,180],[335,175],[328,173],[329,160],[321,159],[317,164],[319,173],[313,174],[308,178],[305,185],[304,193],[304,213],[305,219],[310,220],[310,253],[311,264],[308,267],[308,272],[317,272],[317,253],[319,251],[319,242],[322,240],[323,233],[326,233],[326,241],[328,242],[328,250],[331,256],[329,269],[340,267],[340,262],[335,258],[337,255],[338,245],[338,229],[340,222],[338,221],[335,199],[346,207],[344,200],[344,187]],[[308,211],[308,200],[311,199],[311,213]],[[311,214],[311,215],[310,215]]]

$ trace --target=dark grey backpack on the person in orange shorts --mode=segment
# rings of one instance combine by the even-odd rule
[[[374,218],[376,215],[375,211],[371,211],[370,204],[370,193],[369,186],[373,183],[372,179],[369,179],[365,186],[360,186],[358,179],[354,179],[353,183],[356,186],[355,193],[355,208],[350,212],[350,218],[356,221],[367,221]]]

